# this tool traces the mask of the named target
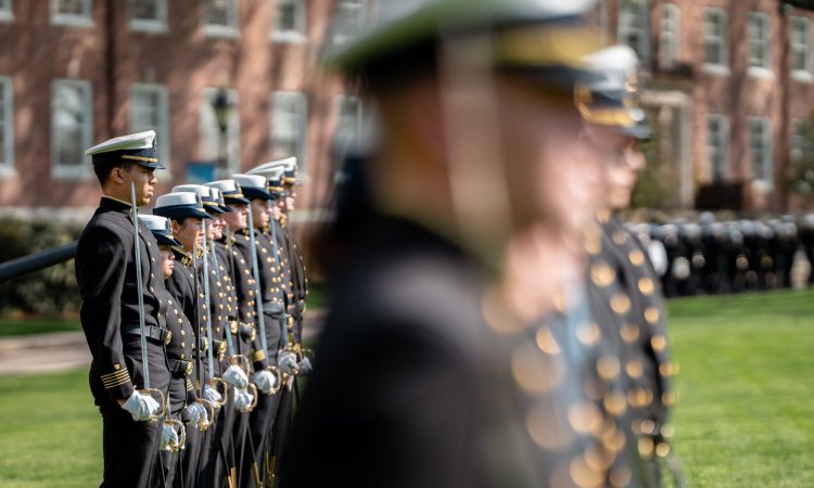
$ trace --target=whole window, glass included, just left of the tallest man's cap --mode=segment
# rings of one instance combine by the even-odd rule
[[[55,79],[51,85],[51,167],[56,178],[90,176],[85,150],[92,145],[93,104],[87,80]]]

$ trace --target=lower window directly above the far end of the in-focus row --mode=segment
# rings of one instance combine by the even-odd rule
[[[271,158],[296,156],[305,171],[305,141],[308,124],[308,100],[293,91],[271,94]]]

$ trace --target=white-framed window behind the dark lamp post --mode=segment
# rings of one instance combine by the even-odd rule
[[[214,162],[217,177],[217,168],[220,158],[220,127],[215,116],[212,102],[215,100],[219,88],[207,87],[203,89],[201,100],[201,159]],[[240,171],[240,98],[234,88],[226,89],[226,98],[231,104],[229,120],[226,126],[226,162],[229,175]]]

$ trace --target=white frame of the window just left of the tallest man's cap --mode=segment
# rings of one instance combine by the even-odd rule
[[[80,103],[82,114],[80,151],[90,147],[93,142],[93,86],[85,79],[56,78],[51,82],[51,172],[58,179],[86,179],[92,175],[90,157],[82,154],[78,165],[65,165],[60,160],[59,138],[63,133],[56,123],[56,91],[60,86],[68,86],[81,90]]]

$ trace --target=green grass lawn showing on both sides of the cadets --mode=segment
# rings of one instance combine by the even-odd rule
[[[814,486],[814,293],[674,300],[669,325],[690,486]],[[86,371],[0,377],[0,486],[99,484]]]

